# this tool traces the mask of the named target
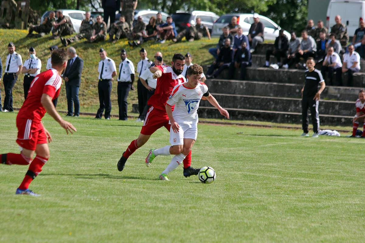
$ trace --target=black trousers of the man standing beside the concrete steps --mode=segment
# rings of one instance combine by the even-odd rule
[[[318,133],[319,128],[319,115],[318,115],[318,101],[313,99],[314,97],[303,97],[301,100],[301,119],[303,132],[308,133],[308,108],[311,110],[311,118],[313,124],[313,132]]]

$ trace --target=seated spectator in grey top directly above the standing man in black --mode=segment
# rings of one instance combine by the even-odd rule
[[[301,40],[300,43],[300,47],[298,52],[295,54],[295,58],[292,58],[289,63],[293,62],[296,63],[296,66],[298,68],[301,68],[303,66],[299,65],[299,60],[300,58],[303,58],[304,60],[307,60],[309,57],[314,58],[315,57],[315,53],[317,51],[317,45],[315,40],[313,39],[312,36],[308,35],[306,30],[303,30],[301,32],[301,38],[303,38]],[[288,65],[290,66],[291,64]]]

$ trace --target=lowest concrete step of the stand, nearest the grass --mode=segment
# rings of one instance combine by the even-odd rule
[[[252,120],[252,121],[266,121],[279,122],[290,124],[301,124],[301,113],[298,112],[284,112],[284,111],[267,111],[267,110],[253,110],[253,109],[235,109],[227,108],[230,114],[230,119],[234,120]],[[199,106],[198,115],[200,118],[218,118],[223,119],[223,116],[215,107]],[[310,128],[312,127],[311,117]],[[326,115],[319,114],[320,125],[336,125],[349,126],[352,124],[353,116],[340,115]]]

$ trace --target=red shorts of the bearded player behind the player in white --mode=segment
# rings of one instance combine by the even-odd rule
[[[147,112],[145,122],[143,122],[141,133],[143,135],[152,135],[163,126],[170,132],[171,124],[169,124],[169,117],[166,111],[151,106]]]

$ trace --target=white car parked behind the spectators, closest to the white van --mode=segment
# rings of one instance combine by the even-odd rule
[[[253,13],[231,13],[225,14],[219,17],[217,21],[213,24],[212,35],[222,35],[223,28],[231,23],[232,17],[237,17],[237,23],[242,27],[243,34],[247,35],[249,33],[251,24],[253,23]],[[265,40],[275,40],[279,36],[279,30],[281,29],[274,21],[268,17],[259,15],[260,21],[264,24],[264,39]],[[290,40],[290,34],[288,31],[284,30],[284,35],[288,36]]]

